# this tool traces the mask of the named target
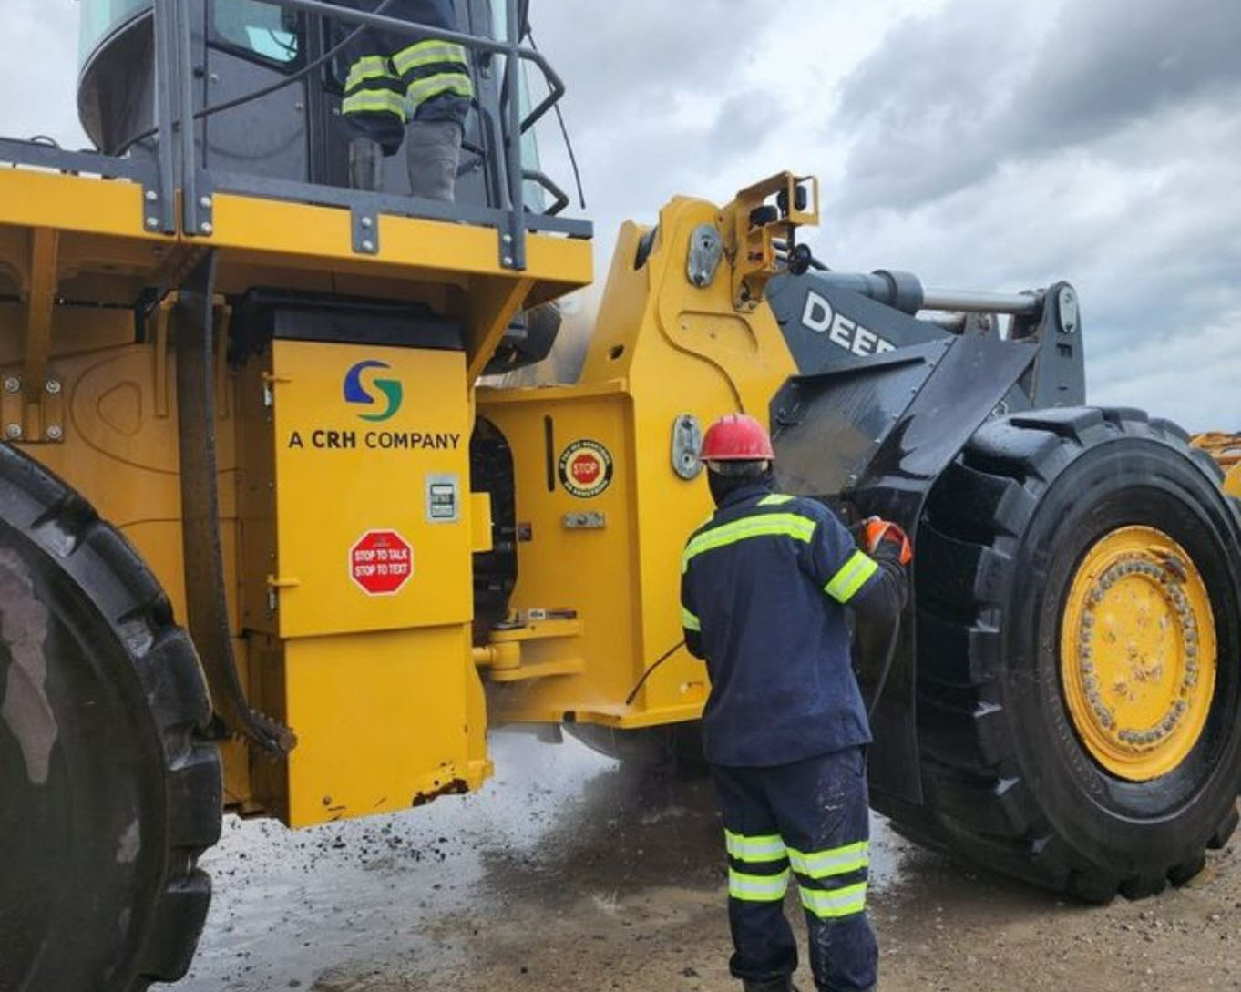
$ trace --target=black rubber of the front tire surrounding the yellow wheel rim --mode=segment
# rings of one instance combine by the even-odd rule
[[[1241,517],[1186,435],[1129,409],[984,425],[918,529],[917,720],[927,805],[906,832],[1088,900],[1196,874],[1237,823]],[[1205,729],[1172,771],[1109,774],[1062,697],[1060,619],[1091,546],[1159,528],[1193,558],[1217,634]],[[897,827],[902,823],[897,816]]]

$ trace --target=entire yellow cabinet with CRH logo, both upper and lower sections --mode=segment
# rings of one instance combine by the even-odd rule
[[[307,826],[478,787],[465,355],[277,340],[240,388],[252,698],[298,735],[258,799]]]

